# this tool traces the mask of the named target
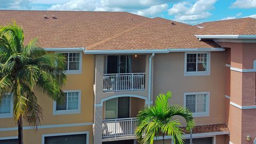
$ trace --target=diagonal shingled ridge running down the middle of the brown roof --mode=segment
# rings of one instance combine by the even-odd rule
[[[123,35],[123,34],[125,34],[125,33],[128,33],[128,32],[131,31],[131,30],[137,29],[137,28],[139,28],[139,27],[141,27],[141,26],[145,25],[146,23],[149,23],[150,21],[153,21],[153,20],[154,20],[154,19],[149,19],[149,20],[147,20],[147,21],[145,21],[145,22],[141,22],[141,23],[139,23],[138,25],[135,25],[135,26],[133,26],[133,27],[131,27],[131,28],[129,28],[129,29],[123,30],[123,31],[121,31],[120,33],[117,33],[117,34],[115,34],[115,35],[113,35],[113,36],[110,36],[110,37],[108,37],[108,38],[106,38],[106,39],[103,39],[102,41],[100,41],[100,42],[98,42],[98,43],[89,45],[89,46],[87,46],[87,47],[88,47],[89,49],[91,49],[91,48],[93,48],[93,47],[95,47],[95,46],[100,46],[100,45],[102,45],[102,44],[104,44],[104,43],[107,43],[107,42],[111,41],[111,40],[114,39],[114,38],[117,38],[118,36],[121,36],[121,35]],[[87,47],[86,47],[86,48],[87,48]]]

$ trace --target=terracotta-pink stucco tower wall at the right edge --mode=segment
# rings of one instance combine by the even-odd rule
[[[242,73],[232,69],[253,69],[253,61],[256,60],[256,43],[220,42],[219,44],[230,49],[230,102],[239,106],[255,106],[255,72]],[[228,83],[226,87],[228,89]],[[230,105],[228,101],[226,107],[229,108],[229,112],[226,123],[230,130],[230,141],[234,144],[253,143],[256,137],[255,109],[241,109]],[[248,134],[251,135],[251,141],[246,141]]]

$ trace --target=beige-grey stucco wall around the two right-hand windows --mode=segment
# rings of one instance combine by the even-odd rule
[[[154,57],[154,99],[171,91],[170,103],[183,106],[183,93],[210,92],[210,116],[196,117],[197,125],[225,123],[226,53],[211,52],[209,76],[184,76],[184,52],[156,54]]]

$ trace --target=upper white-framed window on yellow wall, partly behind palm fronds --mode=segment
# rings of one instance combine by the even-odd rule
[[[81,53],[63,53],[67,61],[67,74],[80,74],[82,67]]]

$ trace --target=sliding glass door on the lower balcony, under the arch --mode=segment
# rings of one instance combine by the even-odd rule
[[[105,119],[130,117],[130,97],[121,97],[105,102]]]

